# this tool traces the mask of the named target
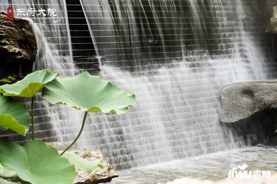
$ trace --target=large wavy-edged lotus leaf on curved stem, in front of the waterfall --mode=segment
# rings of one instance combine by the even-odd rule
[[[42,97],[51,104],[64,104],[84,112],[126,113],[135,107],[136,99],[129,90],[122,90],[101,76],[82,72],[74,78],[56,79],[42,89]]]

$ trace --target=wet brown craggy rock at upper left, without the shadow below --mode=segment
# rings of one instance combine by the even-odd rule
[[[0,55],[2,62],[31,61],[37,42],[30,21],[20,17],[7,20],[0,11]]]

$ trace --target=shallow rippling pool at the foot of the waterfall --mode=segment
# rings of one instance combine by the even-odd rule
[[[228,177],[232,167],[246,163],[246,171],[277,172],[277,147],[263,145],[245,147],[164,162],[147,167],[118,171],[120,177],[112,184],[167,183],[177,178],[191,177],[217,181]]]

